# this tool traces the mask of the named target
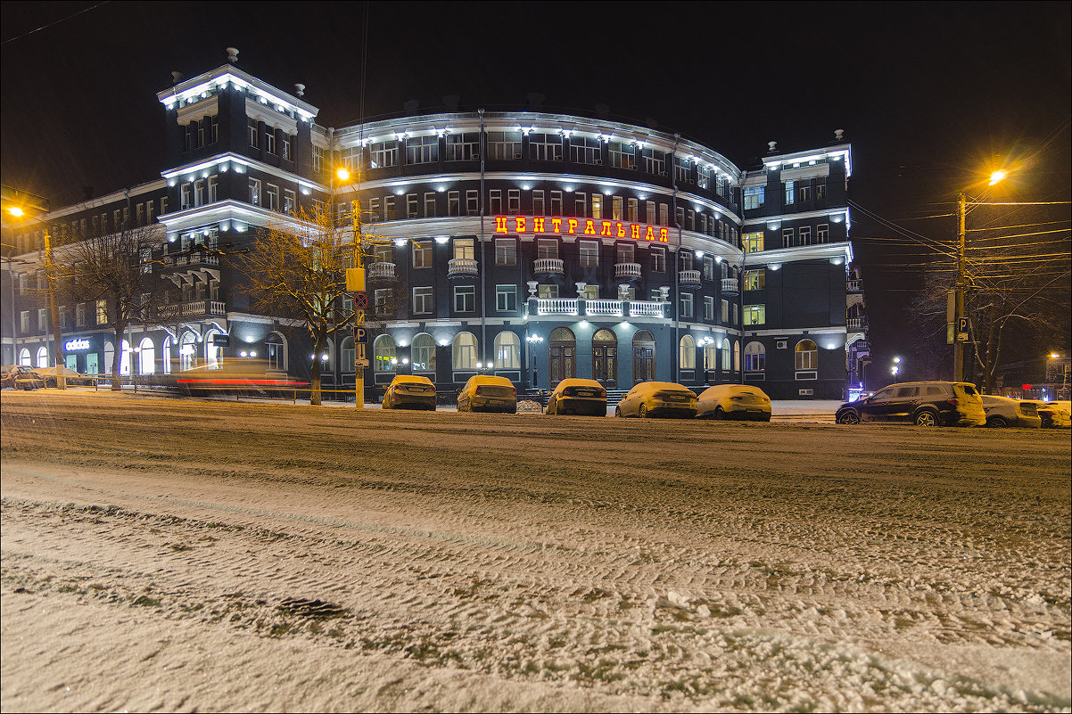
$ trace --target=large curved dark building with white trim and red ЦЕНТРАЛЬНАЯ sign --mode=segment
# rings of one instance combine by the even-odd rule
[[[400,370],[447,393],[485,372],[519,390],[579,376],[844,396],[851,343],[866,336],[842,132],[806,151],[771,143],[740,167],[666,131],[534,107],[329,129],[303,87],[269,86],[236,55],[158,94],[160,180],[16,230],[4,362],[51,360],[46,225],[60,237],[144,226],[157,232],[146,265],[167,281],[167,317],[132,325],[117,346],[106,301],[63,304],[69,367],[104,373],[118,355],[123,374],[159,374],[256,354],[295,376],[319,359],[325,389],[352,390],[352,334],[312,355],[292,321],[251,309],[236,261],[281,213],[331,204],[348,222],[358,199],[381,239],[367,263],[367,399]],[[360,182],[340,185],[339,164]]]

